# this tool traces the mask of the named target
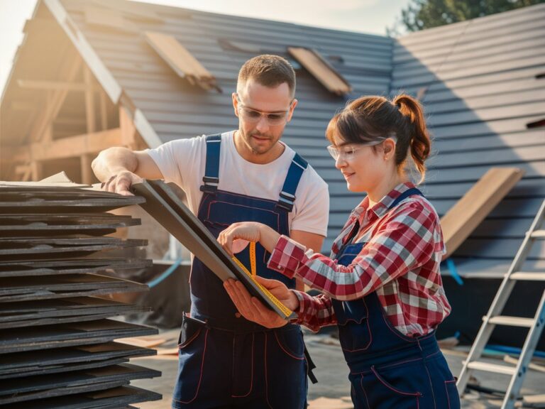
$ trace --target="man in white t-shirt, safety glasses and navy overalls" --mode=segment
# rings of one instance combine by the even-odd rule
[[[241,67],[232,95],[238,130],[148,151],[110,148],[93,161],[94,173],[105,190],[122,195],[130,195],[140,178],[176,182],[215,236],[233,222],[262,222],[319,251],[329,213],[327,185],[280,141],[297,106],[294,92],[289,62],[275,55],[252,58]],[[249,247],[236,254],[248,268]],[[257,246],[258,275],[294,288],[294,280],[266,268],[269,256]],[[173,408],[304,408],[308,364],[299,327],[270,330],[241,317],[221,280],[197,258],[189,282],[192,307],[180,332]]]

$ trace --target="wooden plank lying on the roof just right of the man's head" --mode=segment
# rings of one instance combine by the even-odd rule
[[[290,55],[305,67],[326,89],[337,95],[352,92],[351,84],[338,73],[316,50],[288,47]]]

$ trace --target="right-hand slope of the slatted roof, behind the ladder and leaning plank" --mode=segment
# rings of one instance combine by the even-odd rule
[[[492,166],[526,171],[455,252],[461,273],[505,272],[545,197],[545,4],[396,41],[391,89],[423,99],[434,134],[424,192],[444,214]],[[529,254],[544,266],[544,241]],[[527,265],[527,266],[528,266]],[[494,267],[496,266],[496,267]]]

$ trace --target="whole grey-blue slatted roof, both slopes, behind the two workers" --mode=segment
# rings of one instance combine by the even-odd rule
[[[149,146],[234,129],[231,92],[253,55],[290,58],[288,47],[314,48],[353,87],[328,92],[297,64],[297,107],[283,140],[329,183],[331,215],[324,249],[360,200],[346,191],[324,149],[326,125],[346,99],[361,94],[424,95],[436,156],[423,189],[444,214],[491,166],[527,174],[455,256],[460,271],[506,271],[545,197],[545,4],[412,33],[399,39],[292,23],[226,16],[124,0],[43,0],[114,103],[132,104]],[[120,30],[86,21],[93,6],[121,11]],[[37,6],[37,10],[40,5]],[[96,10],[95,10],[96,11]],[[42,13],[43,14],[43,13]],[[65,18],[65,15],[67,18]],[[144,31],[175,36],[216,77],[222,93],[194,87],[146,43]],[[27,36],[28,37],[28,36]],[[4,93],[4,100],[9,90]],[[545,246],[530,257],[545,264]]]

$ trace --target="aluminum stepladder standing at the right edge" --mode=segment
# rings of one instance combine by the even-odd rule
[[[460,396],[462,396],[466,390],[469,377],[473,370],[503,373],[511,376],[511,380],[509,386],[507,386],[507,391],[505,391],[502,409],[514,408],[522,382],[524,381],[524,376],[528,370],[528,365],[534,355],[536,345],[541,336],[541,331],[545,325],[545,291],[543,295],[541,295],[541,301],[539,302],[536,314],[533,318],[507,317],[501,315],[501,312],[507,304],[507,300],[517,281],[545,281],[545,273],[543,272],[520,271],[520,268],[523,266],[535,241],[545,239],[545,230],[543,226],[544,217],[545,200],[541,204],[534,222],[532,222],[532,226],[529,231],[527,231],[526,236],[524,236],[524,241],[522,241],[522,245],[520,246],[519,251],[517,251],[517,255],[514,256],[509,271],[505,274],[500,288],[497,290],[492,305],[490,305],[490,310],[488,310],[488,314],[483,317],[483,325],[481,325],[477,337],[475,337],[469,355],[466,361],[463,362],[463,368],[458,377],[458,382],[456,383]],[[483,354],[483,349],[485,349],[485,345],[490,339],[490,334],[492,334],[492,330],[496,325],[527,327],[529,329],[516,366],[489,364],[488,362],[479,361]]]

